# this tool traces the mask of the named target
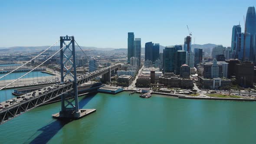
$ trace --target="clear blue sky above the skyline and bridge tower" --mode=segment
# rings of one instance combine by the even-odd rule
[[[127,48],[127,33],[162,46],[231,45],[233,25],[256,0],[2,0],[0,47],[50,46],[75,36],[80,46]]]

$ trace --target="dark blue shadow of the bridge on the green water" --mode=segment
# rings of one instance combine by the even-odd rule
[[[84,98],[82,98],[79,101],[79,108],[83,108],[96,94],[89,94],[86,95]],[[61,130],[66,124],[71,122],[69,121],[60,121],[60,120],[53,120],[43,128],[40,128],[37,130],[35,134],[33,134],[27,141],[30,141],[31,138],[33,138],[34,135],[37,133],[40,133],[38,136],[36,136],[30,144],[46,144],[50,139],[52,139],[55,134],[58,133],[59,130]],[[26,143],[26,142],[25,142]]]

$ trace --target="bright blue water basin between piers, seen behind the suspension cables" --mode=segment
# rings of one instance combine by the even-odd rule
[[[18,79],[26,73],[27,72],[13,72],[13,73],[3,77],[2,79],[0,79],[0,81],[10,80],[10,79]],[[3,75],[6,75],[6,73],[1,73],[0,77],[3,76]],[[35,71],[35,72],[30,72],[29,74],[25,75],[22,79],[35,78],[35,77],[44,77],[44,76],[53,76],[53,75],[48,74],[48,73],[44,73],[44,72],[40,72],[40,71]]]

